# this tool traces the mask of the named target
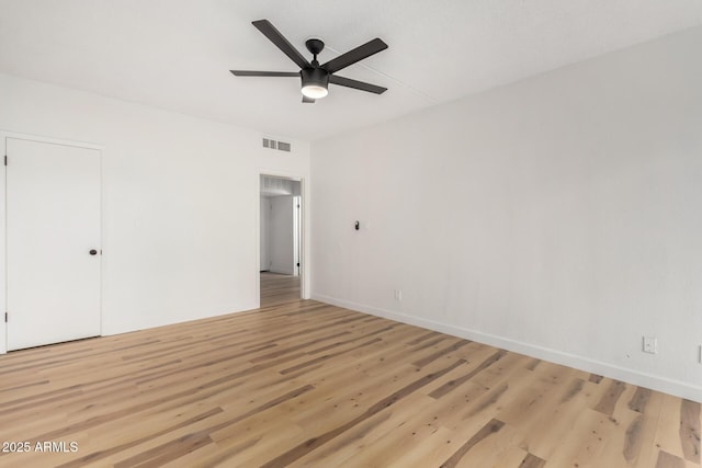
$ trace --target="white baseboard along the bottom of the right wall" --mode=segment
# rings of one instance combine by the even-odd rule
[[[396,312],[394,310],[381,309],[363,304],[337,299],[336,297],[325,296],[321,294],[313,293],[312,299],[318,300],[320,303],[331,304],[338,307],[343,307],[346,309],[355,310],[359,312],[370,313],[372,316],[383,317],[385,319],[398,321],[401,323],[446,333],[452,336],[458,336],[466,340],[476,341],[478,343],[489,344],[490,346],[500,347],[588,373],[602,375],[604,377],[625,381],[638,387],[649,388],[653,390],[673,395],[676,397],[686,398],[688,400],[702,402],[702,387],[690,385],[684,381],[673,380],[650,374],[644,374],[636,370],[627,369],[625,367],[608,364],[601,361],[595,361],[585,356],[564,353],[562,351],[553,350],[550,347],[539,346],[522,341],[469,330],[463,327],[456,327],[434,320],[414,317],[407,313]]]

